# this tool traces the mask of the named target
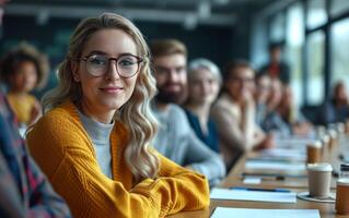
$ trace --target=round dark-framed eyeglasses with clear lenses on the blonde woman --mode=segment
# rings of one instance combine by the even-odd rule
[[[137,74],[142,58],[132,55],[123,55],[118,58],[109,58],[105,55],[90,55],[79,60],[85,61],[88,73],[93,76],[103,76],[109,69],[110,61],[116,61],[116,71],[119,76],[128,78]]]

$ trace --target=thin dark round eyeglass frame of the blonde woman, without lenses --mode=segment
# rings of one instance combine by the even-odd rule
[[[88,59],[89,59],[90,57],[92,57],[92,56],[104,56],[104,57],[107,57],[108,66],[106,68],[105,72],[104,72],[102,75],[93,75],[92,73],[89,72],[89,70],[88,70]],[[135,72],[132,75],[130,75],[130,76],[120,75],[120,73],[119,73],[119,71],[118,71],[118,68],[117,68],[117,61],[118,61],[121,57],[125,57],[125,56],[131,56],[131,57],[133,57],[133,58],[137,59],[137,70],[136,70],[136,72]],[[110,57],[108,57],[108,56],[106,56],[106,55],[101,55],[101,53],[90,53],[90,55],[88,55],[88,56],[85,56],[85,57],[80,57],[80,58],[78,58],[78,59],[75,59],[75,60],[77,60],[77,61],[83,60],[83,61],[85,62],[85,69],[86,69],[86,71],[88,71],[88,73],[89,73],[90,75],[94,76],[94,77],[104,76],[104,75],[108,72],[108,70],[109,70],[109,68],[110,68],[112,60],[115,60],[115,62],[116,62],[116,73],[117,73],[120,77],[123,77],[123,78],[133,77],[133,76],[138,73],[138,71],[139,71],[140,63],[144,61],[143,58],[140,58],[140,57],[135,56],[135,55],[131,55],[131,53],[124,53],[124,55],[121,55],[121,56],[119,56],[119,57],[117,57],[117,58],[110,58]]]

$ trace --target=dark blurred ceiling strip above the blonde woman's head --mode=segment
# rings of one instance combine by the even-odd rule
[[[277,0],[12,0],[10,15],[81,19],[115,12],[131,20],[232,26],[246,14],[265,9]]]

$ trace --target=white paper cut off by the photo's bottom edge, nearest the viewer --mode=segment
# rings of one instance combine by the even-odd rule
[[[249,209],[217,207],[211,218],[319,218],[318,209]]]

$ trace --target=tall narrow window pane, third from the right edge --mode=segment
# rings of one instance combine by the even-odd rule
[[[291,86],[296,106],[302,105],[302,46],[304,43],[303,9],[301,3],[287,11],[286,61],[290,64]]]

